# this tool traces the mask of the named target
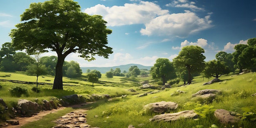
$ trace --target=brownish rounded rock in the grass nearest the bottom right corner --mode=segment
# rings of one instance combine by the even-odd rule
[[[228,124],[228,123],[235,124],[238,121],[240,121],[238,117],[232,116],[230,112],[225,109],[215,110],[214,116],[217,119],[219,119],[222,124]]]

